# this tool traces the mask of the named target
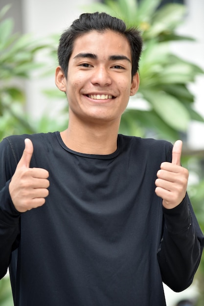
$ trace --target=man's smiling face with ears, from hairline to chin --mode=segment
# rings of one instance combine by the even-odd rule
[[[107,30],[91,31],[77,38],[67,79],[63,79],[69,120],[120,121],[139,84],[137,74],[132,80],[131,70],[131,49],[124,36]]]

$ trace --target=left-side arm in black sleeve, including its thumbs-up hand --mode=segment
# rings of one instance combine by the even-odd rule
[[[0,143],[0,278],[7,271],[12,250],[18,247],[21,213],[42,206],[48,195],[48,172],[30,168],[33,145],[29,139],[20,160],[19,154],[11,141]]]

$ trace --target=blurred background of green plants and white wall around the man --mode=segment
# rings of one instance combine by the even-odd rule
[[[60,34],[80,13],[106,11],[141,29],[140,89],[122,116],[120,132],[183,140],[188,193],[204,231],[204,1],[0,0],[0,140],[11,134],[62,131],[68,103],[56,89]],[[204,306],[204,260],[192,286],[167,306]],[[13,306],[9,276],[0,306]]]

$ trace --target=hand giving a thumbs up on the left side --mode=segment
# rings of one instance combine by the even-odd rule
[[[15,208],[23,213],[42,206],[48,196],[48,172],[41,168],[30,168],[33,144],[25,139],[25,149],[9,184],[9,193]]]

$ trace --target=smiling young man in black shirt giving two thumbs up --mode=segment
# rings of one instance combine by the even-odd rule
[[[82,14],[58,49],[68,129],[0,144],[0,277],[9,266],[16,306],[164,306],[162,281],[192,283],[204,237],[182,143],[118,135],[141,48],[121,20]]]

